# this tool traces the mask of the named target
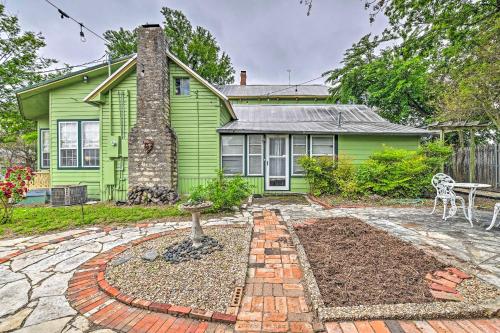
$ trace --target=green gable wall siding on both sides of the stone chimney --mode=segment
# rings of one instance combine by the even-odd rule
[[[170,119],[177,136],[178,191],[187,194],[193,187],[205,184],[215,176],[219,168],[219,135],[216,129],[228,122],[230,115],[218,97],[193,77],[190,81],[190,95],[175,95],[174,79],[189,75],[172,62],[170,76]],[[120,103],[119,96],[122,93],[125,94],[125,103]],[[132,72],[107,93],[106,104],[102,108],[103,200],[126,198],[126,143],[128,131],[136,121],[136,103],[136,74]],[[125,128],[123,138],[121,127]],[[113,145],[113,141],[117,145]]]

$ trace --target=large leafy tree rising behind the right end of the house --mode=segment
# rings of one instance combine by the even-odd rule
[[[369,0],[370,20],[389,26],[364,36],[327,73],[332,99],[378,107],[386,118],[422,125],[442,109],[443,83],[477,57],[479,36],[498,19],[497,0]],[[475,65],[470,67],[474,70]]]

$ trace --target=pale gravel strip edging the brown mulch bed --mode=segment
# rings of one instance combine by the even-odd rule
[[[287,220],[288,231],[297,249],[300,265],[304,271],[304,282],[308,302],[322,321],[350,321],[370,319],[423,320],[436,318],[491,317],[500,308],[500,290],[477,278],[464,280],[457,290],[463,302],[429,302],[404,304],[377,304],[344,307],[327,307],[321,296],[311,264],[300,239],[295,232],[296,220]],[[440,258],[443,260],[443,258]],[[445,264],[449,264],[444,261]],[[467,271],[466,271],[467,272]]]

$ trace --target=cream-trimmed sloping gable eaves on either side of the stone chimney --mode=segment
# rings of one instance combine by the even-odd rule
[[[228,109],[229,113],[231,116],[236,119],[236,114],[234,113],[233,107],[231,103],[229,103],[229,99],[224,95],[222,92],[220,92],[217,88],[215,88],[212,84],[210,84],[207,80],[202,78],[198,73],[196,73],[194,70],[192,70],[189,66],[187,66],[185,63],[180,61],[176,56],[174,56],[172,53],[167,51],[167,57],[175,62],[179,67],[181,67],[183,70],[185,70],[189,75],[193,76],[196,80],[198,80],[201,84],[203,84],[205,87],[207,87],[211,92],[213,92],[217,97],[219,97],[225,104],[226,108]],[[113,83],[119,80],[121,77],[123,77],[125,74],[127,74],[132,68],[135,67],[137,64],[137,54],[134,54],[126,63],[124,63],[118,70],[116,70],[111,76],[106,78],[101,84],[99,84],[90,94],[88,94],[83,101],[87,103],[98,103],[99,102],[99,96],[102,93],[105,93],[106,91],[109,90],[110,87],[113,86]]]

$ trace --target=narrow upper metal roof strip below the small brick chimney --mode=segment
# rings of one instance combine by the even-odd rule
[[[311,85],[225,85],[217,87],[228,97],[268,97],[301,96],[328,97],[329,87],[320,84]]]

